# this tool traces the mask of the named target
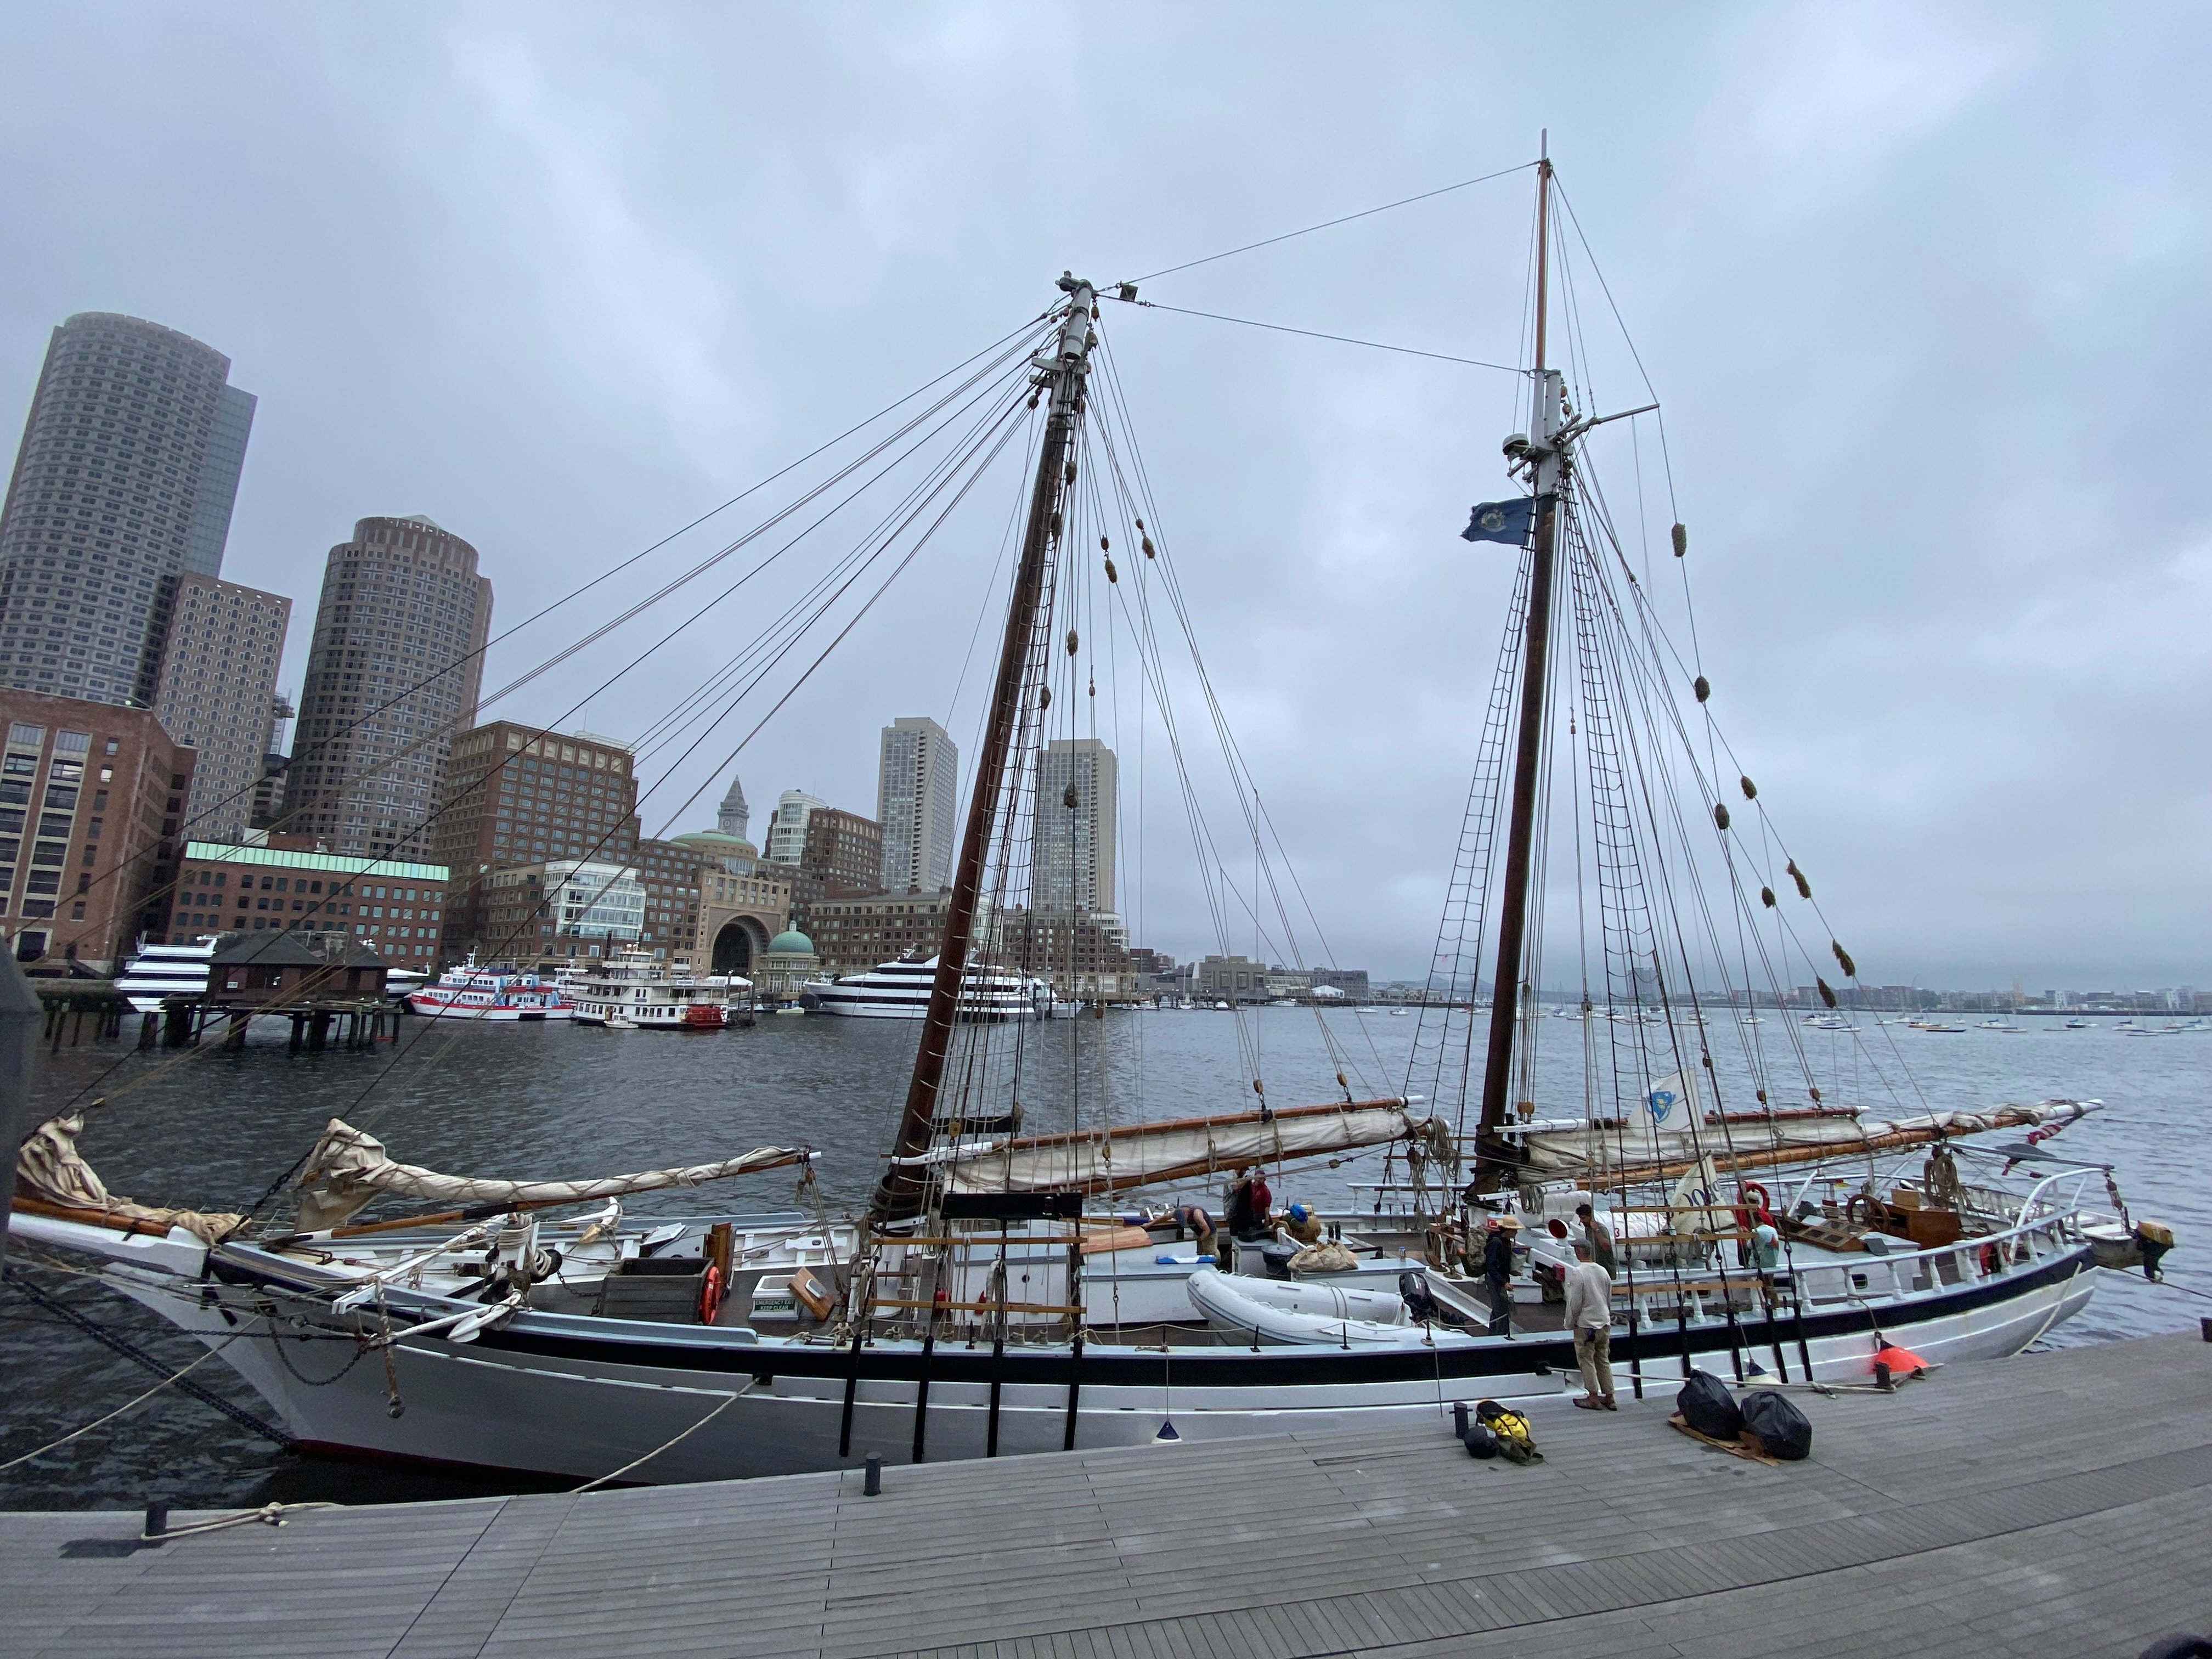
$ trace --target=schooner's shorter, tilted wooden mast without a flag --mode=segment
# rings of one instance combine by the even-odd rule
[[[1091,367],[1091,307],[1097,299],[1091,283],[1064,274],[1060,290],[1068,310],[1060,321],[1060,338],[1051,354],[1035,358],[1040,389],[1051,389],[1044,416],[1044,440],[1037,447],[1037,482],[1029,493],[1029,524],[1022,533],[1022,560],[1013,575],[1013,597],[1006,604],[1006,637],[998,648],[998,684],[991,688],[991,719],[984,728],[982,754],[975,757],[975,790],[969,796],[969,821],[960,836],[960,863],[953,867],[951,905],[945,916],[945,942],[938,947],[938,973],[929,982],[929,1011],[922,1015],[922,1042],[914,1055],[914,1077],[907,1082],[907,1108],[891,1144],[891,1166],[876,1186],[869,1221],[902,1221],[922,1208],[927,1179],[898,1159],[920,1157],[929,1148],[936,1121],[938,1088],[945,1082],[945,1055],[953,1026],[960,1022],[960,982],[967,971],[969,942],[975,931],[975,905],[982,898],[984,860],[991,852],[991,827],[998,823],[1006,785],[1006,757],[1013,750],[1022,714],[1022,679],[1031,646],[1044,617],[1037,615],[1044,595],[1044,571],[1060,540],[1060,502],[1073,482],[1068,434],[1082,407],[1084,376]]]

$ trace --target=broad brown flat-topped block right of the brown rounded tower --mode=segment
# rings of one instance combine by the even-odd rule
[[[630,750],[606,737],[540,732],[522,721],[462,732],[425,845],[431,860],[453,872],[447,953],[498,953],[504,933],[493,918],[493,872],[549,858],[633,860]]]

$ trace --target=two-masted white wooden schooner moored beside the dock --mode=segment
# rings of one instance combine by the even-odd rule
[[[1710,770],[1690,763],[1686,794],[1655,794],[1652,745],[1681,737],[1677,690],[1701,710],[1708,688],[1701,675],[1694,690],[1663,684],[1666,648],[1632,577],[1621,593],[1584,462],[1610,416],[1577,414],[1546,361],[1551,190],[1542,161],[1528,425],[1504,449],[1526,493],[1469,526],[1520,557],[1471,790],[1480,834],[1462,836],[1402,1088],[1343,1084],[1343,1099],[1276,1108],[1254,1077],[1239,1110],[1119,1121],[1077,1099],[1062,1126],[1024,1133],[1037,1026],[962,1018],[971,971],[1048,967],[1009,951],[1004,927],[1035,898],[1024,872],[1055,832],[1037,757],[1079,646],[1068,593],[1088,535],[1110,586],[1115,533],[1135,564],[1119,604],[1179,606],[1157,524],[1115,493],[1124,451],[1104,411],[1117,398],[1097,369],[1102,299],[1135,288],[1102,296],[1071,274],[1042,336],[1011,358],[1006,414],[1037,414],[1035,471],[945,938],[863,1217],[626,1210],[703,1181],[805,1177],[803,1146],[507,1181],[400,1164],[341,1121],[290,1183],[290,1219],[201,1214],[111,1194],[62,1117],[24,1148],[18,1230],[102,1259],[108,1285],[219,1349],[303,1442],[622,1480],[1281,1433],[1557,1394],[1573,1345],[1551,1287],[1579,1203],[1613,1225],[1613,1352],[1632,1387],[1672,1387],[1692,1365],[1832,1383],[1869,1376],[1885,1343],[1942,1363],[2044,1336],[2088,1303],[2097,1261],[2124,1261],[2137,1239],[2124,1212],[2081,1203],[2104,1166],[2048,1150],[2095,1102],[1907,1102],[1874,1117],[1807,1084],[1805,1104],[1776,1104],[1778,1079],[1809,1075],[1812,1055],[1794,1022],[1774,1040],[1756,1031],[1745,982],[1719,1006],[1747,1077],[1714,1064],[1717,993],[1699,978],[1725,951],[1697,953],[1719,936],[1686,920],[1697,907],[1668,896],[1657,856],[1734,860],[1730,902],[1754,925],[1776,920],[1778,900]],[[1099,471],[1113,491],[1084,487]],[[1701,745],[1677,748],[1694,761]],[[1577,768],[1588,816],[1568,834],[1553,785]],[[1741,796],[1756,801],[1750,779]],[[1593,852],[1601,925],[1584,960],[1579,1082],[1553,1106],[1533,987],[1546,849],[1562,836]],[[1809,902],[1794,860],[1787,874]],[[1761,953],[1787,949],[1787,933],[1756,936]],[[1460,991],[1484,969],[1486,1006]],[[1761,1000],[1774,1004],[1772,987]],[[1068,1042],[1086,1026],[1071,1022]],[[1079,1088],[1079,1068],[1071,1079]],[[1995,1148],[1975,1159],[1982,1137]],[[1133,1208],[1203,1197],[1243,1166],[1363,1152],[1383,1152],[1389,1179],[1323,1217],[1329,1237],[1296,1256],[1232,1241],[1188,1203]],[[2008,1179],[2015,1168],[2031,1175]],[[411,1210],[365,1219],[372,1206]],[[1533,1241],[1511,1307],[1491,1307],[1471,1272],[1491,1217]],[[1745,1265],[1745,1232],[1765,1217],[1783,1259]]]

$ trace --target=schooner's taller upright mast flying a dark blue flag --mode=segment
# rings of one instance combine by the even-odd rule
[[[1559,542],[1559,480],[1566,469],[1559,434],[1559,374],[1544,367],[1551,312],[1551,146],[1537,159],[1535,199],[1535,396],[1528,418],[1528,462],[1535,484],[1535,564],[1528,575],[1520,741],[1513,750],[1513,812],[1506,825],[1506,876],[1498,918],[1498,971],[1491,982],[1491,1040],[1482,1066],[1482,1119],[1475,1133],[1475,1188],[1491,1190],[1517,1161],[1498,1135],[1513,1088],[1513,1026],[1520,1015],[1528,940],[1528,869],[1535,858],[1535,792],[1544,754],[1544,692],[1551,661],[1551,584]]]

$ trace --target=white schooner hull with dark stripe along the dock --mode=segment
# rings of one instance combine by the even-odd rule
[[[20,1225],[33,1234],[66,1228],[31,1217],[22,1217]],[[232,1325],[221,1305],[204,1301],[197,1276],[150,1270],[157,1245],[102,1254],[148,1261],[148,1267],[111,1270],[111,1283],[201,1340],[223,1345],[223,1360],[281,1413],[285,1427],[319,1447],[593,1478],[653,1453],[708,1411],[726,1407],[630,1480],[805,1473],[869,1453],[905,1462],[914,1449],[916,1378],[925,1360],[911,1340],[880,1340],[865,1349],[845,1455],[841,1433],[852,1352],[818,1340],[759,1338],[741,1327],[522,1314],[469,1345],[438,1336],[405,1340],[394,1352],[405,1413],[394,1418],[383,1367],[363,1363],[345,1369],[349,1345],[290,1343],[279,1358],[265,1321],[252,1312],[263,1292],[234,1287],[221,1296],[239,1321]],[[2086,1243],[2048,1241],[2033,1263],[2000,1276],[1913,1296],[1827,1303],[1809,1310],[1803,1327],[1787,1316],[1772,1325],[1745,1318],[1734,1332],[1708,1321],[1690,1332],[1690,1363],[1721,1376],[1734,1365],[1745,1371],[1759,1365],[1767,1376],[1781,1367],[1787,1380],[1803,1383],[1809,1360],[1814,1380],[1854,1383],[1871,1374],[1885,1340],[1938,1365],[2002,1358],[2086,1307],[2093,1281]],[[1091,1279],[1086,1290],[1095,1294],[1099,1281]],[[445,1307],[431,1303],[429,1312]],[[1672,1394],[1683,1374],[1674,1329],[1646,1327],[1644,1354],[1632,1365],[1628,1354],[1635,1347],[1626,1329],[1615,1329],[1619,1387],[1630,1389],[1639,1367],[1646,1391]],[[1548,1365],[1551,1376],[1537,1376],[1540,1365]],[[989,1349],[938,1347],[929,1360],[927,1458],[984,1455],[989,1367]],[[1079,1449],[1144,1444],[1168,1420],[1181,1438],[1225,1440],[1433,1416],[1453,1400],[1540,1398],[1573,1385],[1573,1354],[1559,1332],[1524,1332],[1506,1340],[1464,1332],[1427,1336],[1416,1327],[1394,1352],[1179,1347],[1161,1356],[1159,1347],[1095,1343],[1079,1363],[1064,1345],[1015,1347],[1000,1371],[1000,1453],[1060,1451],[1066,1444],[1071,1369],[1079,1380]]]

